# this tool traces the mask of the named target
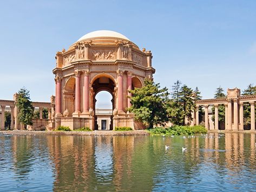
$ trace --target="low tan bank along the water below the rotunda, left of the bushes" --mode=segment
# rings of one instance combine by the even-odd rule
[[[29,131],[29,130],[2,130],[5,135],[85,135],[85,136],[127,136],[127,135],[150,135],[146,130],[113,131]]]

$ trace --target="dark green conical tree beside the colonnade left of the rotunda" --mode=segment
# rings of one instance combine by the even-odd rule
[[[34,107],[30,101],[29,91],[22,88],[18,91],[17,103],[18,107],[18,121],[23,125],[32,125],[32,118],[34,117]]]

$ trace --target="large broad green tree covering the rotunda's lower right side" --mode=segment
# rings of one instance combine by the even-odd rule
[[[134,112],[135,120],[139,120],[153,128],[154,125],[164,125],[168,122],[167,114],[167,88],[160,88],[159,83],[154,83],[148,78],[144,81],[142,88],[130,90],[132,107],[128,110]]]

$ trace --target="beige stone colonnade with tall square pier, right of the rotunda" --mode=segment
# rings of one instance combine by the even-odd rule
[[[198,100],[196,101],[196,111],[192,113],[192,125],[198,125],[199,107],[204,107],[204,122],[208,130],[219,130],[218,106],[225,105],[225,130],[245,130],[244,127],[244,110],[243,105],[250,103],[251,105],[251,130],[255,130],[255,102],[256,95],[241,96],[240,89],[228,89],[226,98]],[[209,114],[209,108],[214,108],[214,114]],[[212,110],[211,110],[212,111]],[[211,116],[215,116],[215,122],[212,122]]]

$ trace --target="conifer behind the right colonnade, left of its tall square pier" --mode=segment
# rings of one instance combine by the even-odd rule
[[[214,98],[225,98],[226,95],[224,94],[224,89],[222,89],[220,86],[216,89]],[[215,107],[212,108],[213,116],[212,121],[215,123]],[[218,105],[218,120],[220,123],[225,122],[225,105],[220,104]]]

